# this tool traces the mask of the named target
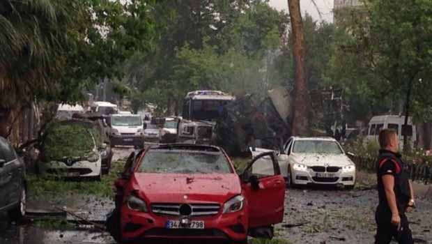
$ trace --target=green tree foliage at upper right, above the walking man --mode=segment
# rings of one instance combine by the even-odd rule
[[[346,91],[359,119],[403,112],[411,84],[415,117],[431,118],[431,13],[431,1],[373,0],[339,23],[329,83]]]

